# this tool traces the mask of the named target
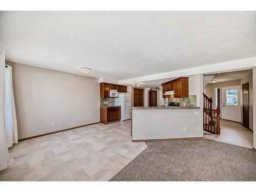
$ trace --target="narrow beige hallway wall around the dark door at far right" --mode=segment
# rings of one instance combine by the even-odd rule
[[[253,97],[252,97],[252,73],[241,78],[240,83],[241,83],[241,123],[243,123],[243,83],[249,82],[249,129],[253,130],[253,112],[252,112],[252,102],[253,102]]]

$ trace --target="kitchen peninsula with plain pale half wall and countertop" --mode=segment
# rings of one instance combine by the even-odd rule
[[[132,108],[133,141],[203,138],[199,106]]]

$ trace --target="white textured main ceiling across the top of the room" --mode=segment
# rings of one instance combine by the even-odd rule
[[[256,12],[0,13],[6,59],[117,80],[256,56]]]

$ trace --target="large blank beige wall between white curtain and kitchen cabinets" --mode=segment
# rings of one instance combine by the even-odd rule
[[[19,139],[99,121],[98,79],[17,63],[7,65],[13,68]]]

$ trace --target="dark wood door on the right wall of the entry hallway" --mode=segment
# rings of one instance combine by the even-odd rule
[[[243,83],[243,125],[249,129],[249,82]]]

